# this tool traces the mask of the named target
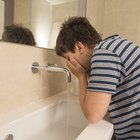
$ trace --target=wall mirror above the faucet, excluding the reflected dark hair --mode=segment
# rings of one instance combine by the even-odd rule
[[[37,46],[54,49],[61,23],[84,16],[84,5],[85,0],[1,0],[0,27],[22,24],[32,31]],[[0,28],[0,36],[2,32]]]

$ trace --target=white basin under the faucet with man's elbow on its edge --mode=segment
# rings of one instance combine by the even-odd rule
[[[13,140],[111,140],[113,134],[113,125],[106,120],[89,124],[78,97],[72,95],[61,93],[23,110],[1,120],[0,140],[8,134]]]

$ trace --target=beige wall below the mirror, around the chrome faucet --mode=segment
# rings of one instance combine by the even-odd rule
[[[39,71],[33,74],[33,62],[65,66],[54,50],[0,42],[0,116],[40,99],[67,90],[64,73]]]

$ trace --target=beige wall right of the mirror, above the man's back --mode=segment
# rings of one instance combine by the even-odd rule
[[[140,0],[87,0],[87,17],[103,38],[119,34],[140,44]]]

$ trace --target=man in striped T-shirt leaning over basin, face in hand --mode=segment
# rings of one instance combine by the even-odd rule
[[[96,123],[108,111],[116,139],[140,139],[140,48],[119,35],[102,40],[86,18],[72,17],[55,49],[79,79],[85,117]]]

